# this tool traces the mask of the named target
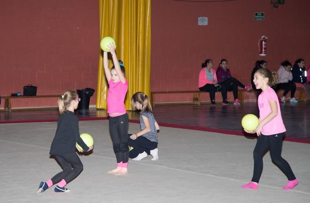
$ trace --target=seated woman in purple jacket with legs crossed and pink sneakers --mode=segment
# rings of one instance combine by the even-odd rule
[[[219,63],[219,67],[216,70],[216,76],[217,76],[218,83],[226,87],[225,88],[226,95],[227,95],[227,91],[232,90],[233,97],[235,100],[234,101],[235,105],[240,105],[240,102],[238,101],[238,86],[241,88],[244,88],[246,91],[249,91],[252,88],[251,85],[244,85],[239,80],[232,77],[229,69],[227,69],[226,59],[222,59],[221,62]]]

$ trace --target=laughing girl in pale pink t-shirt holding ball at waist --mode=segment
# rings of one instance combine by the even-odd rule
[[[256,133],[258,139],[253,152],[253,178],[250,183],[242,185],[242,188],[258,189],[258,182],[263,172],[263,155],[268,148],[272,161],[277,164],[288,179],[288,183],[282,189],[291,190],[298,184],[289,163],[281,157],[282,138],[286,129],[282,121],[277,94],[270,87],[275,86],[278,81],[277,73],[271,73],[266,68],[260,68],[254,74],[255,87],[262,89],[263,92],[258,97],[259,125],[253,131],[244,129],[247,133]]]

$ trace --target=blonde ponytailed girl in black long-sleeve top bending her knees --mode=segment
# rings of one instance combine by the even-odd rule
[[[69,192],[70,190],[64,186],[76,178],[83,169],[83,164],[75,153],[76,142],[84,151],[93,149],[92,146],[87,147],[80,138],[78,117],[73,113],[74,109],[77,109],[79,101],[80,98],[78,98],[77,92],[73,90],[64,92],[64,95],[58,98],[60,116],[57,123],[56,134],[51,144],[50,154],[55,156],[63,171],[56,174],[47,182],[41,182],[37,193],[44,192],[56,183],[58,184],[54,189],[55,192]],[[82,152],[79,149],[78,151]]]

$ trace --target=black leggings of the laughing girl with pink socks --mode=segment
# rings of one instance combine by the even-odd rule
[[[296,177],[287,161],[281,157],[283,133],[275,135],[261,134],[254,149],[254,172],[252,181],[258,183],[263,172],[263,154],[268,149],[270,150],[271,159],[286,175],[288,180],[295,180]]]

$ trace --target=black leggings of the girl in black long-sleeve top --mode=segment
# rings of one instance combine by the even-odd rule
[[[83,170],[83,164],[75,152],[70,154],[55,155],[55,158],[63,171],[51,178],[53,185],[59,183],[62,179],[64,179],[68,184]]]

